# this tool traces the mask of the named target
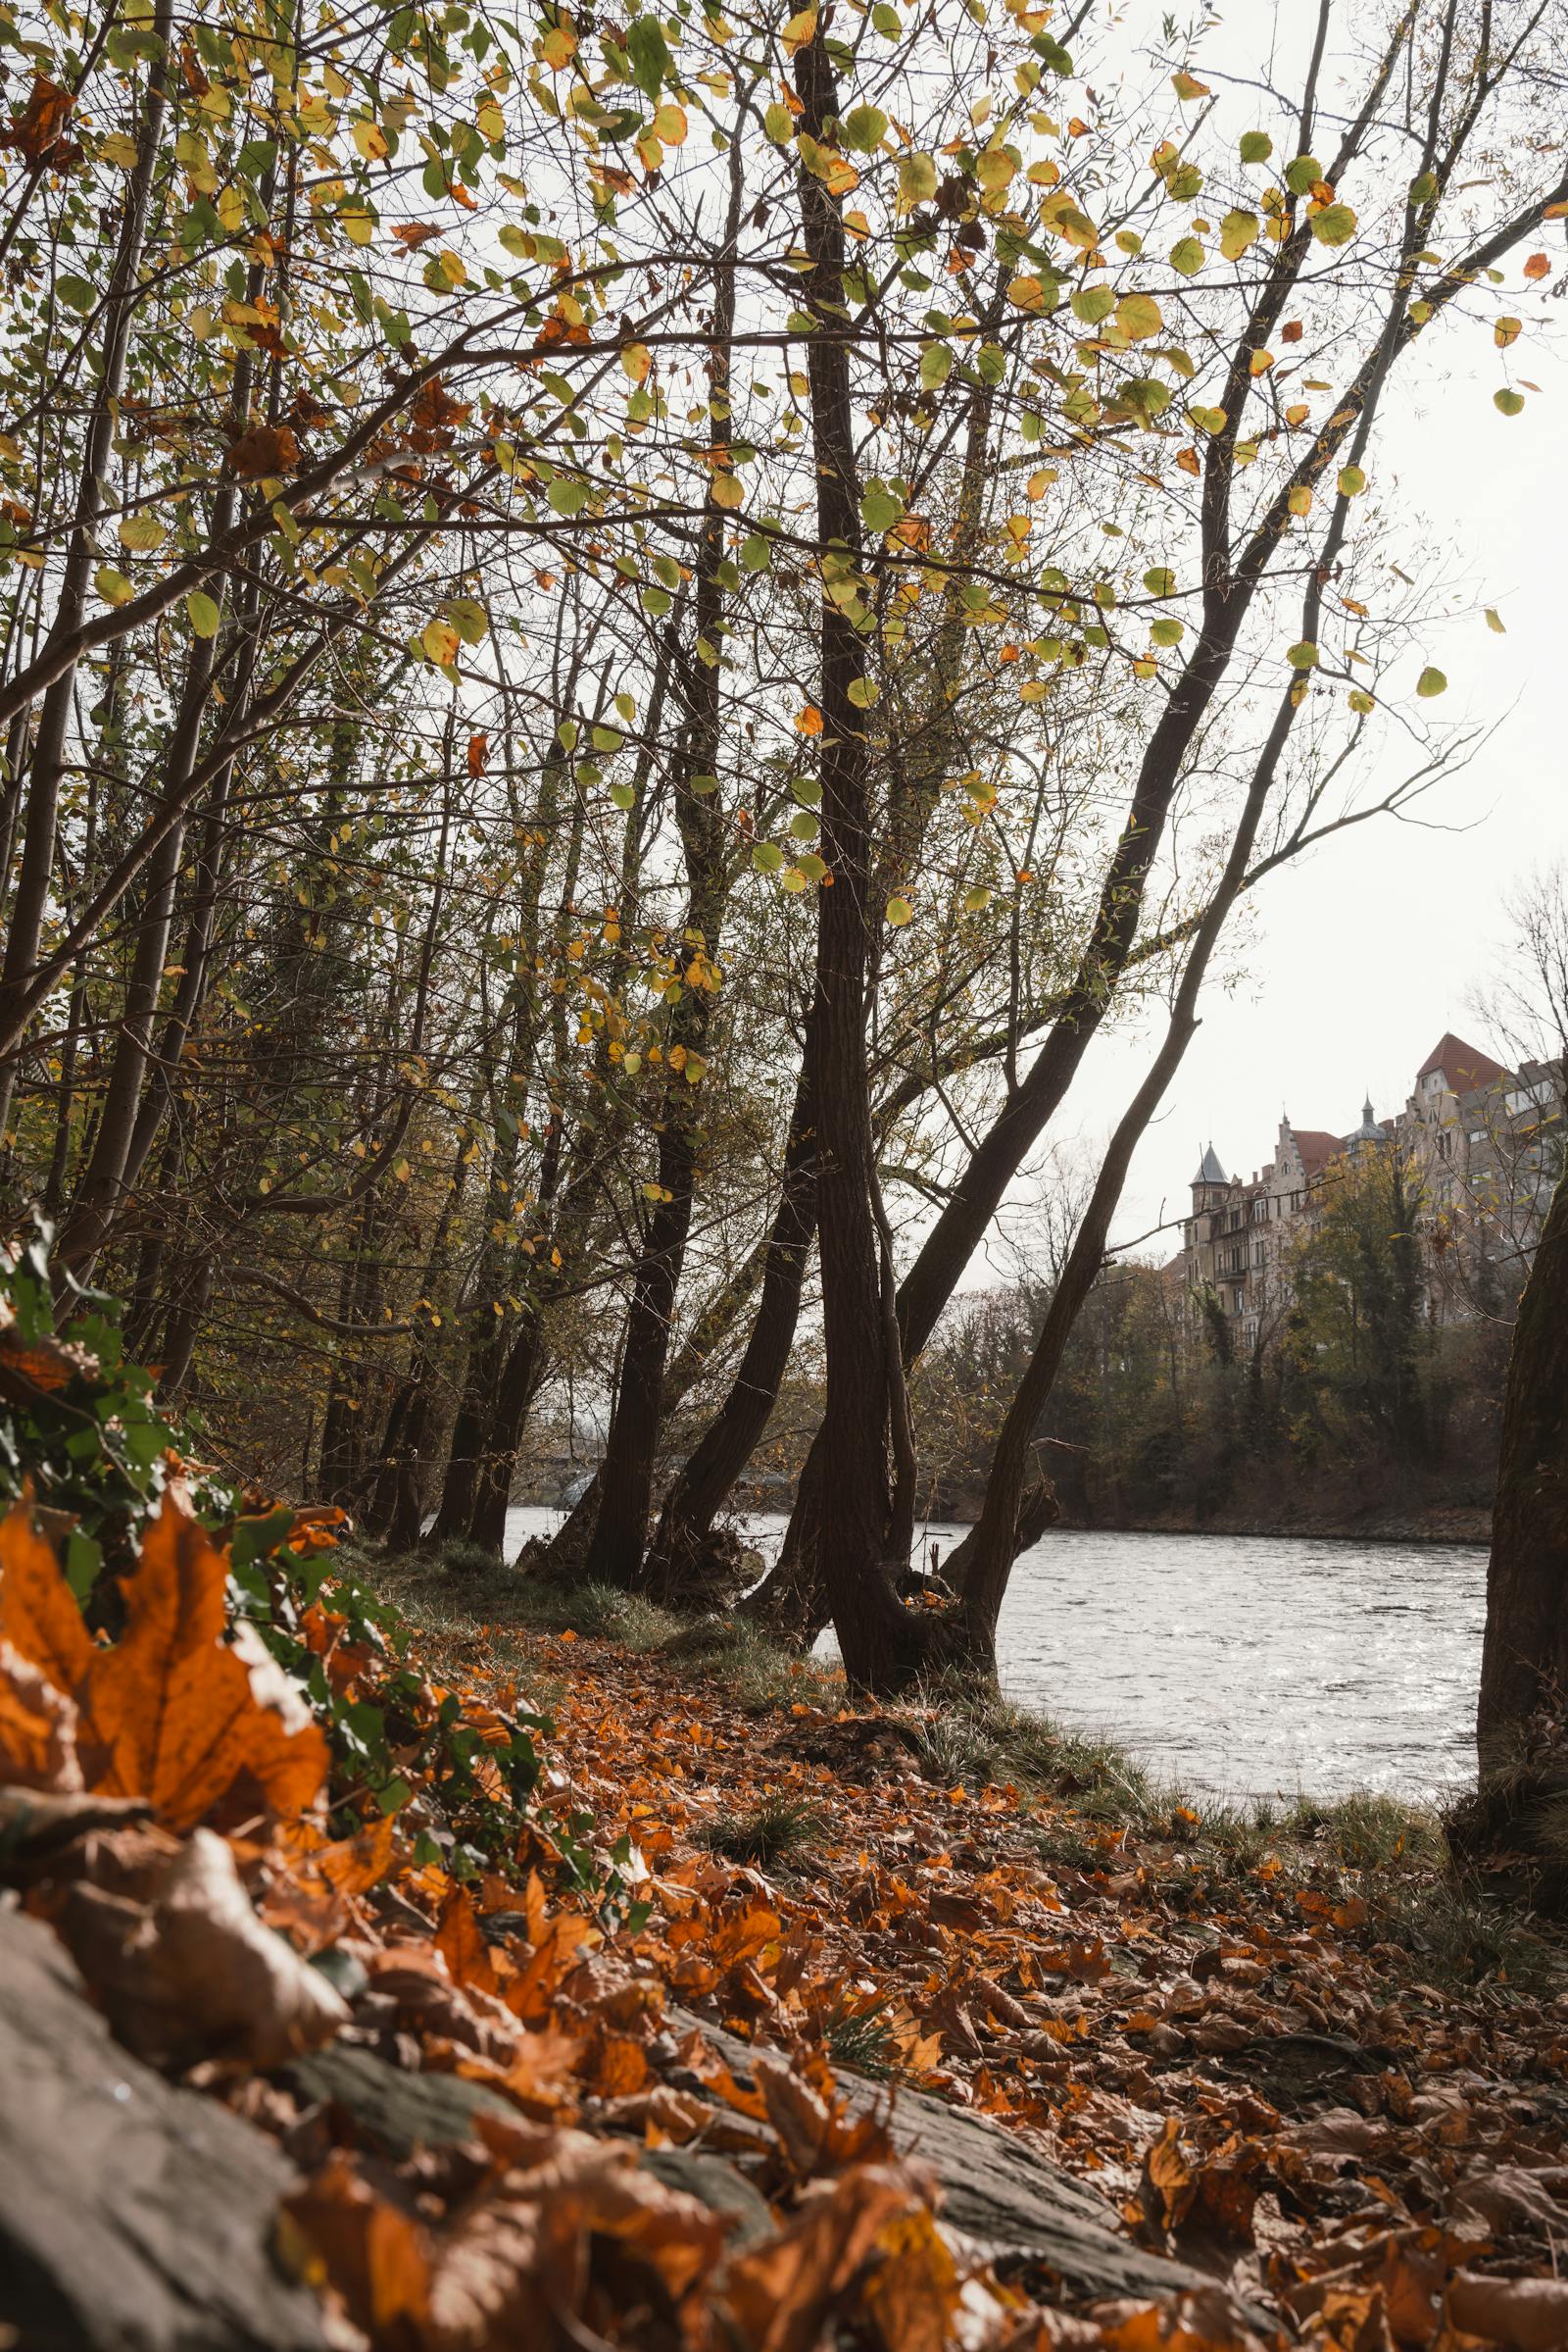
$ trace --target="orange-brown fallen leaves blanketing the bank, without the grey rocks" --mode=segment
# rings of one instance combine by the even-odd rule
[[[388,1797],[226,1637],[226,1576],[165,1498],[108,1642],[12,1512],[0,1865],[127,2046],[282,2140],[277,2256],[346,2343],[1568,2343],[1556,1947],[1422,1933],[1434,1860],[1380,1816],[1211,1835],[1128,1778],[1114,1820],[1072,1771],[1009,1780],[943,1700],[783,1668],[799,1696],[764,1703],[679,1649],[451,1611],[388,1682],[327,1578],[339,1733],[357,1693],[404,1710]],[[505,1837],[456,1835],[545,1686]],[[1450,1947],[1476,1980],[1427,1980]],[[896,2129],[912,2091],[1213,2288],[1095,2300],[978,2249]]]

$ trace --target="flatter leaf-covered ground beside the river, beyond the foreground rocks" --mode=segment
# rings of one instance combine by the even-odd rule
[[[388,1588],[433,1672],[552,1717],[555,1802],[625,1842],[649,1917],[597,1962],[564,2096],[590,2129],[762,2178],[792,2246],[769,2293],[804,2324],[757,2333],[750,2288],[719,2288],[731,2343],[809,2345],[830,2312],[889,2352],[1568,2343],[1568,1947],[1455,1879],[1432,1816],[1187,1804],[1041,1719],[875,1710],[741,1628],[679,1632],[604,1590],[428,1564]],[[672,2072],[649,2027],[675,2004],[785,2051],[792,2089],[783,2063],[738,2089],[679,2037]],[[607,2016],[639,2018],[632,2039]],[[1025,2253],[938,2256],[905,2216],[882,2288],[872,2265],[835,2303],[804,2232],[835,2197],[851,2227],[877,2154],[835,2077],[882,2084],[893,2117],[936,2093],[1020,2133],[1220,2296],[1107,2300]],[[919,2131],[905,2154],[919,2180]]]

